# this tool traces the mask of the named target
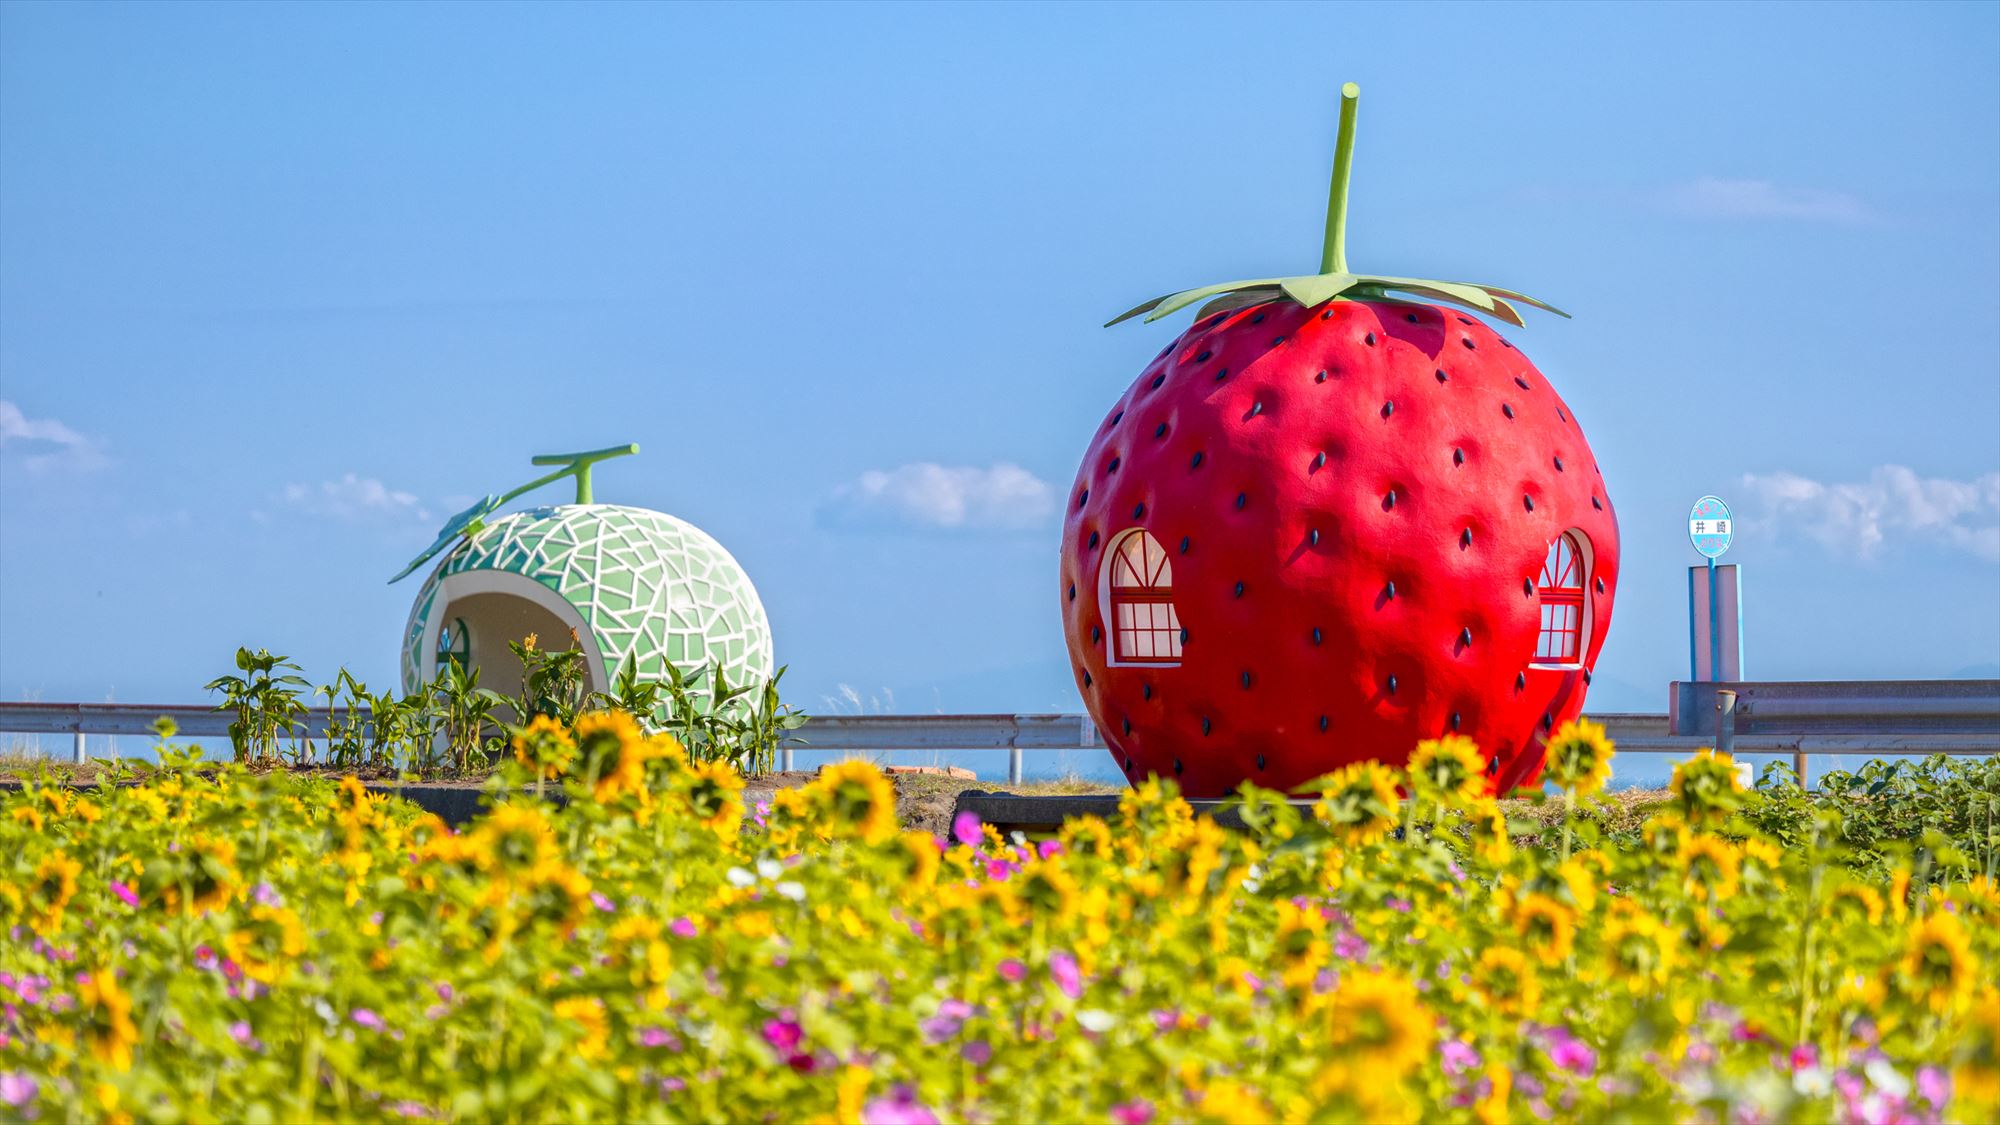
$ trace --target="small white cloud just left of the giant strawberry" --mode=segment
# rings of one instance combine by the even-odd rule
[[[1054,512],[1056,488],[1018,464],[920,460],[836,486],[822,518],[846,528],[1020,530],[1046,524]]]

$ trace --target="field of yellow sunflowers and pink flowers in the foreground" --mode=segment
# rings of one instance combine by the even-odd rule
[[[1608,757],[1558,733],[1566,807]],[[538,721],[492,791],[454,833],[168,753],[4,797],[0,1117],[2000,1115],[1990,837],[1780,847],[1710,755],[1642,831],[1532,847],[1462,739],[1240,833],[1150,783],[936,839],[866,763],[746,809],[618,713]]]

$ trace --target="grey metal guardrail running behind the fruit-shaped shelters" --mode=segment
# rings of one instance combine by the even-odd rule
[[[1734,697],[1730,695],[1734,693]],[[1722,703],[1734,699],[1730,713]],[[88,761],[90,735],[152,735],[168,717],[194,739],[228,737],[230,713],[142,703],[0,703],[0,733],[70,735]],[[1738,755],[2000,755],[2000,681],[1676,683],[1668,715],[1594,715],[1626,755],[1692,755],[1722,745]],[[326,735],[328,709],[306,713],[308,739]],[[1008,781],[1028,751],[1080,751],[1104,739],[1088,715],[818,715],[794,751],[1008,751]]]

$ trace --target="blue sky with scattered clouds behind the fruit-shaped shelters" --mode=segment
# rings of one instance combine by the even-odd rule
[[[1596,711],[2000,675],[2000,6],[0,6],[0,697],[388,683],[532,452],[762,589],[808,711],[1076,711],[1056,496],[1172,288],[1318,260],[1510,336],[1624,532]]]

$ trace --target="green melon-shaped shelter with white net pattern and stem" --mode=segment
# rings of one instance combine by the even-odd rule
[[[632,452],[636,444],[536,456],[534,464],[560,468],[458,512],[390,579],[444,552],[404,629],[406,693],[452,659],[480,669],[480,687],[514,695],[520,661],[508,643],[530,635],[542,649],[570,649],[574,635],[588,691],[610,691],[628,663],[642,679],[666,679],[668,665],[684,673],[720,665],[732,685],[770,679],[770,623],[736,558],[686,520],[592,500],[590,466]],[[564,476],[576,478],[574,504],[490,518]]]

